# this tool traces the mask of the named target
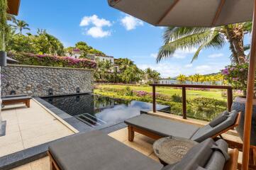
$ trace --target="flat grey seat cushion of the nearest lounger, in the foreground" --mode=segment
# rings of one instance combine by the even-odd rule
[[[157,170],[162,165],[100,131],[53,142],[49,151],[62,170]]]

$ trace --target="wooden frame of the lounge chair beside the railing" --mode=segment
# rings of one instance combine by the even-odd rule
[[[240,119],[241,119],[241,113],[238,113],[238,116],[235,119],[234,125],[226,128],[225,130],[222,130],[221,132],[218,132],[216,135],[212,136],[211,138],[214,139],[215,137],[218,137],[218,135],[221,135],[221,134],[223,134],[225,132],[228,132],[228,130],[233,130],[235,127],[237,127],[239,125]],[[163,137],[163,136],[155,134],[154,132],[150,132],[148,130],[144,130],[143,128],[138,128],[138,127],[133,126],[133,125],[128,125],[128,140],[130,142],[133,142],[133,140],[134,140],[134,133],[135,132],[138,132],[138,133],[140,133],[142,135],[148,136],[148,137],[150,137],[150,138],[152,138],[154,140],[158,140],[158,139]]]

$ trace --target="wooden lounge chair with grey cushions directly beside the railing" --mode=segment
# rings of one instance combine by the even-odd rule
[[[161,137],[184,137],[196,142],[202,142],[208,137],[217,137],[238,126],[240,113],[228,111],[221,113],[208,125],[197,127],[187,123],[160,118],[153,115],[142,114],[125,121],[128,125],[128,140],[133,142],[134,132],[151,137],[155,140]]]

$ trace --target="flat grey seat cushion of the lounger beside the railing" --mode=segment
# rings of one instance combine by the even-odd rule
[[[125,120],[125,123],[153,132],[162,137],[174,136],[190,139],[192,135],[199,130],[199,128],[194,125],[179,123],[147,114],[138,115],[134,118]]]

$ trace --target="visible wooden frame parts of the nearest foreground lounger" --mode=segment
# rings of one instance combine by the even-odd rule
[[[232,149],[228,152],[230,159],[226,162],[224,170],[237,170],[238,169],[238,149]],[[48,151],[48,156],[50,157],[50,170],[62,170],[58,166],[52,154]],[[75,160],[74,160],[75,161]]]

